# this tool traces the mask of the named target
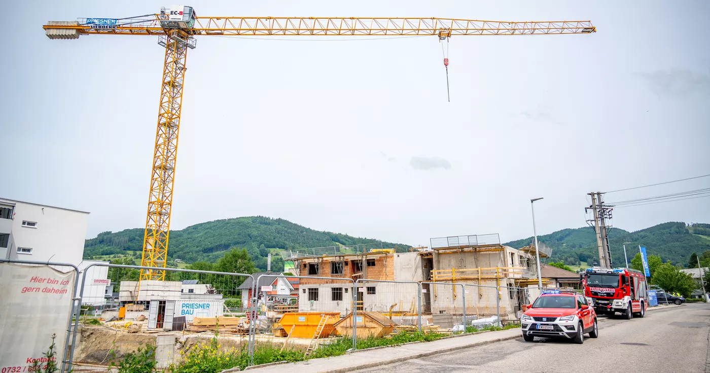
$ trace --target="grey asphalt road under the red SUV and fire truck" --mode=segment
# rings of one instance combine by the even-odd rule
[[[600,316],[599,321],[599,338],[585,335],[583,345],[520,337],[357,372],[710,372],[708,303],[653,310],[632,320]]]

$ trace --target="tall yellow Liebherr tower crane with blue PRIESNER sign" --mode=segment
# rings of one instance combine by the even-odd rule
[[[168,6],[160,13],[129,18],[78,18],[43,26],[50,39],[82,35],[157,36],[165,48],[158,129],[143,237],[141,280],[164,280],[173,207],[175,162],[185,83],[187,50],[197,36],[514,36],[594,33],[591,21],[506,22],[457,18],[399,17],[199,17],[192,6]],[[448,65],[448,59],[444,65]]]

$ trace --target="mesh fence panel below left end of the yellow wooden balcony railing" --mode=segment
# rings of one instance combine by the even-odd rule
[[[466,320],[466,291],[463,283],[422,282],[422,330],[463,330]],[[429,316],[430,315],[430,316]],[[458,326],[457,326],[458,325]],[[435,331],[435,330],[432,330]]]

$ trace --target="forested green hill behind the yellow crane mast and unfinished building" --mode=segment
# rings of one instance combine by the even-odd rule
[[[133,256],[140,261],[143,249],[142,228],[126,229],[121,232],[102,232],[97,237],[87,239],[84,244],[84,259],[110,259],[116,256]],[[377,239],[352,237],[347,234],[321,232],[294,224],[288,220],[251,216],[234,219],[214,220],[192,225],[185,229],[170,231],[168,259],[185,263],[195,261],[214,262],[231,247],[244,247],[251,255],[258,269],[266,269],[266,256],[270,252],[284,249],[307,249],[313,247],[349,246],[370,244],[373,247],[398,248],[407,250],[410,246],[381,242]],[[368,248],[370,248],[368,246]],[[272,269],[283,269],[280,255],[272,256]]]

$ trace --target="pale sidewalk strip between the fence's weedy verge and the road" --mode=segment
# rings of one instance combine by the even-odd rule
[[[402,362],[429,355],[437,355],[467,347],[487,345],[488,343],[512,340],[521,336],[520,329],[485,332],[476,335],[452,337],[434,342],[420,342],[398,347],[384,347],[362,350],[350,354],[313,359],[307,362],[271,365],[268,367],[247,369],[249,372],[298,372],[298,373],[342,373],[357,369],[379,367],[393,362]]]

